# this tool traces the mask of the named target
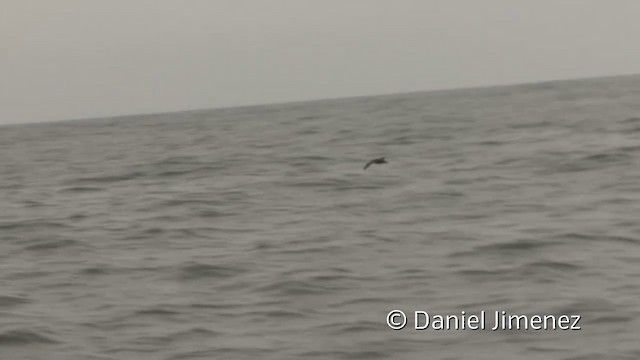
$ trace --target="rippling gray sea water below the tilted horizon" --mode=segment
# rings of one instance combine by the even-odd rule
[[[0,200],[2,359],[640,358],[637,76],[4,126]]]

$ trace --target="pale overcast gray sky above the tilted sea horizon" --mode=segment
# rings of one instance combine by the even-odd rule
[[[638,0],[0,4],[0,123],[640,73]]]

